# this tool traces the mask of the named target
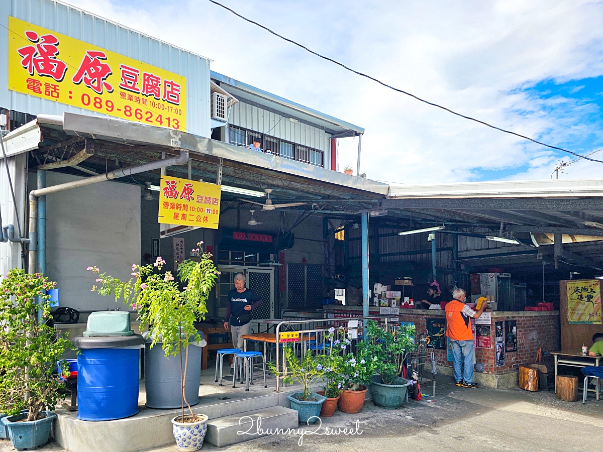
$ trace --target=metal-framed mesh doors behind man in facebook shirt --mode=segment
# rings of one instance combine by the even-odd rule
[[[257,293],[262,298],[262,304],[254,310],[252,318],[274,318],[274,269],[265,267],[245,267],[239,265],[218,265],[220,272],[216,284],[216,312],[224,316],[228,306],[228,292],[235,288],[235,275],[242,273],[247,278],[245,286]]]

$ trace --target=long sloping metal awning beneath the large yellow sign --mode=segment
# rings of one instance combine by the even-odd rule
[[[116,162],[121,166],[137,165],[159,160],[162,152],[178,154],[185,150],[191,155],[192,178],[215,182],[221,165],[223,184],[251,190],[271,188],[278,202],[304,201],[310,206],[317,202],[321,209],[327,210],[357,212],[370,208],[384,199],[389,189],[387,184],[367,178],[191,133],[101,116],[74,113],[52,118],[40,116],[8,134],[5,142],[11,155],[30,152],[31,168],[41,165],[56,168],[55,162],[62,162],[61,167],[71,167],[63,171],[75,168],[89,173],[105,172],[107,162],[111,162],[109,169],[115,169]],[[188,177],[186,166],[173,166],[169,171],[178,177]],[[159,181],[159,173],[147,177],[153,183]],[[238,197],[241,196],[227,193],[224,199]]]

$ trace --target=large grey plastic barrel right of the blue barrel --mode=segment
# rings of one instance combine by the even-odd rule
[[[161,343],[152,349],[145,341],[145,392],[149,408],[179,408],[182,403],[180,388],[180,355],[164,355]],[[182,351],[184,366],[186,351]],[[201,347],[189,345],[186,366],[185,396],[189,405],[199,403],[201,384]]]

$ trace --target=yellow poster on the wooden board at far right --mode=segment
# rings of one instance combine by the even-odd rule
[[[567,281],[567,321],[602,323],[599,280]]]

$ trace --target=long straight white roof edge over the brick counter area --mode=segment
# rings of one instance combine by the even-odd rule
[[[453,210],[586,210],[603,212],[603,197],[590,198],[412,198],[384,199],[382,206],[397,209]]]

